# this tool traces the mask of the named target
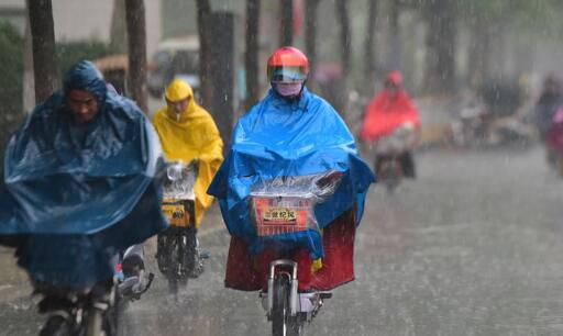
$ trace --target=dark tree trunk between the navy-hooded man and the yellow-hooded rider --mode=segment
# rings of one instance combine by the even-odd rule
[[[125,0],[129,42],[128,91],[139,108],[148,113],[146,96],[146,25],[143,0]]]

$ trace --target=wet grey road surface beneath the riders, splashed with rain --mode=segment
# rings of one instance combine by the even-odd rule
[[[416,181],[393,195],[371,190],[356,281],[334,291],[307,335],[563,335],[563,181],[542,148],[416,159]],[[206,223],[206,272],[175,299],[151,261],[156,282],[126,311],[123,335],[269,333],[256,292],[222,288],[229,236],[218,208]],[[22,276],[1,276],[1,335],[36,335],[43,323]]]

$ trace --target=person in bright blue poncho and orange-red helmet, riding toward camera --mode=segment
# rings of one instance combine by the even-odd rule
[[[300,270],[322,258],[312,279],[300,272],[300,289],[333,288],[354,278],[354,232],[374,176],[357,156],[354,137],[334,109],[305,87],[308,70],[307,57],[296,48],[284,47],[272,55],[268,78],[273,89],[239,121],[231,153],[209,188],[219,199],[232,235],[229,288],[264,287],[264,268],[276,256],[269,253],[272,246],[297,248],[292,258],[298,259]],[[250,204],[256,186],[317,188],[319,181],[336,176],[338,184],[314,206],[316,226],[267,237],[257,234]]]

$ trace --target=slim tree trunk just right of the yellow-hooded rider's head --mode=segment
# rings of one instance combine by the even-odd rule
[[[201,104],[208,105],[212,99],[213,88],[209,80],[209,18],[211,15],[211,4],[209,0],[196,0],[198,11],[198,33],[199,33],[199,79],[201,86]]]

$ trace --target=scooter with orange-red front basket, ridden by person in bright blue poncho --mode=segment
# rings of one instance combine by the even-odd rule
[[[251,219],[256,234],[267,238],[314,226],[316,202],[333,192],[336,183],[330,179],[319,179],[316,183],[318,192],[311,192],[303,188],[307,183],[298,179],[290,183],[284,183],[282,179],[251,192]],[[260,298],[275,336],[302,335],[306,324],[312,322],[324,300],[332,298],[330,291],[300,292],[298,268],[298,262],[286,258],[269,264],[267,291],[262,291]]]

